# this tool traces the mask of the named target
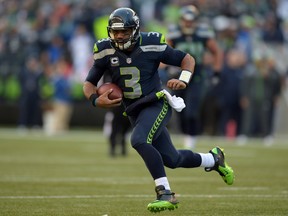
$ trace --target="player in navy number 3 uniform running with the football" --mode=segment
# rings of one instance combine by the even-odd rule
[[[180,77],[170,79],[167,87],[185,89],[193,74],[194,58],[168,46],[164,36],[158,32],[140,32],[139,18],[130,8],[113,11],[107,30],[109,37],[95,43],[94,64],[84,82],[83,91],[93,106],[107,108],[123,103],[126,107],[133,127],[131,145],[142,157],[156,185],[156,200],[148,204],[148,210],[160,212],[178,207],[164,166],[172,169],[205,167],[208,171],[217,171],[231,185],[234,173],[219,147],[209,153],[177,150],[166,128],[172,108],[166,94],[161,91],[159,64],[180,67]],[[109,100],[108,95],[113,90],[96,94],[97,84],[105,71],[110,73],[112,82],[122,89],[123,98]]]

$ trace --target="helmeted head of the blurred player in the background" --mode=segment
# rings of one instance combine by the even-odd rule
[[[195,30],[195,21],[198,17],[199,11],[194,5],[188,5],[180,9],[180,28],[183,34],[193,34]]]

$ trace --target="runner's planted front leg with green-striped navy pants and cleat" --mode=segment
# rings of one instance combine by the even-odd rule
[[[161,100],[143,109],[133,120],[135,127],[132,131],[131,143],[144,160],[156,184],[156,200],[147,206],[151,212],[173,210],[178,207],[178,201],[170,190],[162,157],[152,145],[154,136],[161,134],[171,114],[171,107],[168,106],[167,101]]]

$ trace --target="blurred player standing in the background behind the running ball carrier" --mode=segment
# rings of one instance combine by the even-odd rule
[[[203,73],[204,54],[208,51],[213,58],[214,73],[210,82],[213,86],[219,82],[223,62],[223,52],[214,38],[214,32],[206,22],[200,22],[199,17],[199,10],[194,5],[182,7],[179,24],[171,26],[167,34],[169,45],[189,53],[196,59],[191,85],[174,92],[186,101],[186,109],[179,113],[179,121],[181,132],[185,135],[184,146],[189,149],[195,147],[196,137],[203,127],[200,121],[200,108],[207,77]]]

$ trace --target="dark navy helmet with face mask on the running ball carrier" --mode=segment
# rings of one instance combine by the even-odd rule
[[[114,30],[127,29],[132,29],[132,34],[128,39],[119,40],[114,37]],[[120,50],[127,50],[134,46],[140,36],[139,17],[135,11],[130,8],[118,8],[113,11],[109,17],[107,31],[113,47]]]

